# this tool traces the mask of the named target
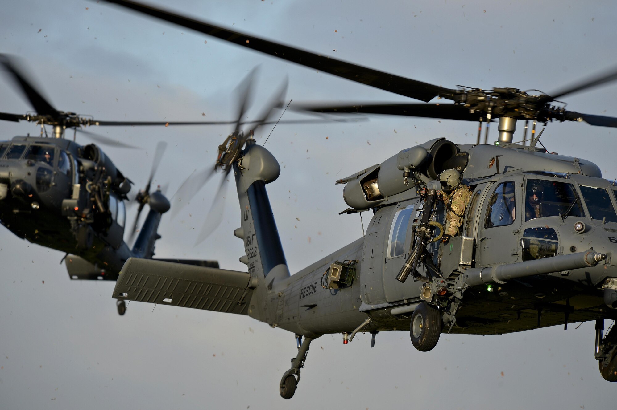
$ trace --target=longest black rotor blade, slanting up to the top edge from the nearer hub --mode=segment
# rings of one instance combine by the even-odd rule
[[[455,90],[444,87],[434,86],[426,82],[417,81],[410,78],[384,73],[384,71],[373,70],[354,63],[336,60],[327,55],[315,54],[310,51],[285,46],[273,41],[260,39],[239,31],[230,30],[208,22],[201,22],[193,18],[175,14],[156,7],[128,0],[109,0],[109,2],[119,4],[128,9],[136,10],[140,13],[160,18],[167,22],[199,31],[225,41],[233,42],[238,46],[260,51],[272,57],[282,58],[290,62],[304,65],[325,73],[334,74],[352,81],[361,82],[367,86],[376,87],[382,90],[394,92],[395,94],[405,95],[406,97],[429,102],[434,97],[452,98]]]

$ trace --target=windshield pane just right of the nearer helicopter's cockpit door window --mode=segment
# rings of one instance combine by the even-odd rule
[[[565,215],[584,217],[581,201],[571,183],[528,179],[525,220]]]

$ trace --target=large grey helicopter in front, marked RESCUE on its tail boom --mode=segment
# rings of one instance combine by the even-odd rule
[[[551,95],[518,89],[446,89],[394,76],[132,1],[112,1],[238,45],[343,78],[429,102],[302,107],[310,111],[387,113],[480,123],[475,144],[434,139],[356,172],[345,184],[341,213],[373,211],[366,234],[290,275],[265,185],[280,166],[238,129],[219,147],[216,168],[234,172],[247,271],[187,267],[131,258],[114,298],[249,315],[296,335],[298,353],[280,394],[294,395],[312,340],[358,332],[410,329],[420,351],[444,332],[503,334],[595,320],[595,360],[617,382],[617,187],[585,159],[537,147],[536,124],[617,119],[566,111],[555,98],[617,78],[611,72]],[[499,140],[487,144],[499,118]],[[533,121],[529,144],[514,143],[516,121]],[[480,143],[486,124],[484,143]],[[527,127],[525,127],[527,129]],[[541,144],[541,143],[540,143]],[[470,201],[460,235],[444,240],[448,209],[440,193],[464,183]]]

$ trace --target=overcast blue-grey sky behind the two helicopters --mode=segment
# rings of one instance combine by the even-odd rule
[[[4,2],[0,52],[19,55],[59,110],[97,119],[223,120],[234,87],[260,65],[254,110],[289,76],[288,98],[414,102],[265,57],[103,2]],[[167,2],[159,1],[159,4]],[[550,93],[617,65],[615,1],[191,1],[173,10],[222,26],[444,87],[516,87]],[[172,7],[172,6],[169,6]],[[0,112],[32,110],[0,78]],[[568,109],[617,116],[617,86],[565,98]],[[205,115],[205,116],[204,116]],[[252,117],[251,117],[252,116]],[[283,118],[294,118],[286,113]],[[523,124],[518,125],[521,135]],[[155,183],[172,195],[211,166],[228,127],[90,129],[141,150],[104,148],[136,188],[159,140],[169,147]],[[271,129],[256,136],[258,143]],[[476,124],[371,117],[352,124],[279,125],[266,147],[281,163],[268,185],[292,272],[362,235],[334,181],[436,137],[475,141]],[[497,138],[496,127],[492,139]],[[2,139],[33,124],[0,124]],[[265,134],[265,135],[262,135]],[[550,151],[591,159],[617,177],[615,129],[549,124]],[[72,135],[70,135],[72,137]],[[79,137],[81,143],[89,140]],[[232,185],[232,184],[230,184]],[[174,219],[164,215],[157,256],[218,259],[244,270],[234,188],[222,223],[195,246],[213,181]],[[128,214],[132,223],[136,209]],[[144,212],[145,213],[145,212]],[[365,216],[365,225],[369,216]],[[342,345],[315,340],[292,400],[278,383],[296,355],[294,335],[247,316],[131,302],[116,313],[112,283],[70,281],[62,254],[0,230],[0,407],[6,409],[608,409],[615,385],[594,360],[594,323],[503,336],[442,335],[417,352],[408,331]],[[154,308],[154,310],[153,310]],[[607,323],[608,326],[609,323]]]

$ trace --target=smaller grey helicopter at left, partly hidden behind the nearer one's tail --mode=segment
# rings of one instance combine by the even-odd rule
[[[135,237],[141,211],[147,204],[149,213],[139,229],[133,248],[124,241],[125,201],[131,181],[122,174],[101,147],[81,146],[65,138],[67,129],[82,132],[104,145],[136,148],[122,142],[85,131],[96,126],[168,126],[164,122],[99,121],[58,111],[43,97],[38,87],[20,67],[15,57],[0,54],[0,64],[35,108],[35,113],[17,115],[0,113],[5,121],[29,121],[41,126],[39,137],[14,137],[0,143],[0,218],[2,225],[19,238],[65,252],[62,259],[71,279],[111,280],[130,257],[151,258],[160,236],[157,228],[170,203],[160,187],[151,190],[152,179],[167,143],[159,142],[152,159],[146,187],[133,194],[139,207],[135,223],[129,225],[129,240]],[[239,119],[238,119],[239,122]],[[199,121],[171,125],[212,124]],[[48,136],[45,126],[51,126]],[[184,263],[218,266],[209,260],[184,260]],[[124,315],[126,305],[117,303]]]

